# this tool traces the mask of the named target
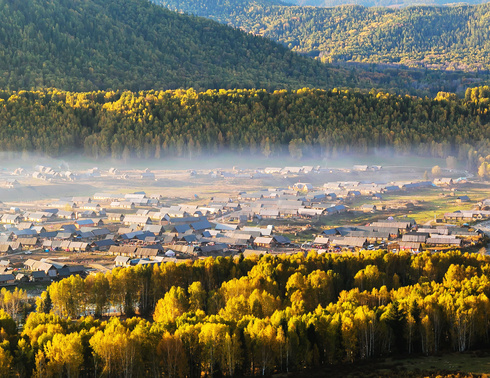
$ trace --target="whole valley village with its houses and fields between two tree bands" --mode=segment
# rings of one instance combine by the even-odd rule
[[[38,165],[31,171],[1,173],[3,190],[10,192],[32,188],[32,180],[46,185],[96,182],[97,187],[110,189],[92,195],[3,201],[1,286],[43,284],[121,266],[192,262],[210,256],[478,250],[486,245],[486,236],[476,222],[490,219],[490,200],[459,194],[473,185],[466,177],[373,181],[373,176],[386,171],[381,166],[186,170],[181,174],[188,180],[221,180],[220,187],[226,189],[190,195],[167,188],[166,193],[179,196],[159,190],[165,172],[64,169]],[[258,181],[251,186],[254,177]],[[276,178],[274,183],[288,179],[289,184],[264,185],[269,177],[273,182]],[[343,177],[350,180],[331,181]],[[155,193],[118,191],[118,185],[124,185],[113,184],[114,180],[140,180],[140,187]],[[418,223],[414,218],[427,193],[437,193],[452,205],[442,207],[434,220]]]

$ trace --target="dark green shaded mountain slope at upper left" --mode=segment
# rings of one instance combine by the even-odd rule
[[[283,46],[146,0],[0,0],[0,19],[1,88],[333,84],[325,66]]]

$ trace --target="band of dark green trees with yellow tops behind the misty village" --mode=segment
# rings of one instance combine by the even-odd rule
[[[461,100],[337,89],[0,92],[0,150],[127,159],[392,147],[454,155],[475,168],[478,155],[490,155],[489,105],[489,87],[468,89]]]

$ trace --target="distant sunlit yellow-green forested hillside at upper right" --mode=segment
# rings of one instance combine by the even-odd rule
[[[324,62],[490,68],[490,4],[403,9],[291,7],[265,2],[154,0],[283,43]]]

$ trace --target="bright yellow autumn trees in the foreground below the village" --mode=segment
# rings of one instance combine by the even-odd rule
[[[2,289],[0,375],[263,376],[488,348],[489,270],[458,251],[118,268],[51,284],[20,332],[25,294]]]

